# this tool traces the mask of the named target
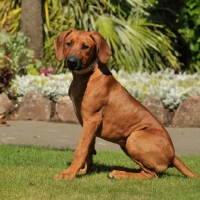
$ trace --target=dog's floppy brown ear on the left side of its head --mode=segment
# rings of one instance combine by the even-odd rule
[[[69,29],[61,33],[58,37],[54,39],[54,48],[56,50],[56,58],[57,60],[61,61],[63,59],[63,41],[67,35],[69,35],[73,29]]]

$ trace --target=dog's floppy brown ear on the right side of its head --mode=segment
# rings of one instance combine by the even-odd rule
[[[107,63],[112,52],[108,46],[106,40],[98,32],[91,32],[91,37],[95,41],[97,46],[97,55],[102,63]]]

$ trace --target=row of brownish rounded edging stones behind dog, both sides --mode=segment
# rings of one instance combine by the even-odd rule
[[[191,96],[176,110],[165,109],[161,100],[148,97],[143,105],[165,126],[200,127],[200,96]],[[5,93],[0,94],[0,119],[79,123],[69,96],[60,97],[56,103],[42,94],[27,93],[22,102],[11,101]]]

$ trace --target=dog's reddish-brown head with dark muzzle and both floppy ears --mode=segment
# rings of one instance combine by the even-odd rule
[[[65,58],[65,67],[81,70],[91,65],[97,57],[106,63],[112,52],[105,39],[98,32],[70,29],[54,39],[56,58]]]

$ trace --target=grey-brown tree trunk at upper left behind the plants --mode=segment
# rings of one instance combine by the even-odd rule
[[[21,31],[30,38],[28,47],[39,58],[43,52],[42,0],[22,0]]]

